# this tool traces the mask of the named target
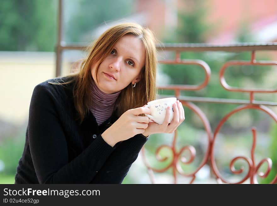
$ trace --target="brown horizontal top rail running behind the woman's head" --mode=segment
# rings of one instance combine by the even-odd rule
[[[178,52],[205,52],[205,51],[258,51],[258,50],[277,50],[277,43],[233,43],[233,44],[206,44],[206,43],[163,43],[164,46],[157,45],[158,50],[178,51]],[[61,45],[63,50],[84,50],[86,45]]]

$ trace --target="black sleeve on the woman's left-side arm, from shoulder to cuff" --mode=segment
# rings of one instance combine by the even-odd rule
[[[29,110],[29,144],[39,183],[88,184],[114,151],[99,135],[69,162],[67,141],[55,107],[56,97],[46,86],[34,89]]]

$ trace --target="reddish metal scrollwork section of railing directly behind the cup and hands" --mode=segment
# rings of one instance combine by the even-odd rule
[[[210,69],[209,65],[206,62],[204,62],[202,60],[199,60],[199,59],[181,60],[179,52],[176,53],[175,60],[159,61],[159,62],[163,63],[163,64],[184,64],[184,65],[185,64],[190,64],[190,65],[193,64],[193,65],[199,65],[204,70],[206,77],[205,77],[205,80],[203,81],[203,83],[200,84],[200,85],[168,85],[168,86],[160,86],[159,87],[159,89],[174,89],[177,98],[180,95],[180,90],[200,90],[208,84],[208,81],[210,79],[211,69]],[[192,163],[195,159],[196,150],[193,146],[184,146],[183,148],[180,149],[179,152],[176,151],[177,131],[174,131],[174,138],[173,138],[172,146],[170,147],[170,146],[167,146],[167,145],[161,145],[155,152],[156,159],[158,161],[166,161],[168,159],[168,157],[161,158],[159,156],[159,152],[162,148],[169,148],[170,149],[170,151],[172,152],[173,157],[172,157],[172,161],[166,167],[164,167],[162,169],[156,169],[156,168],[151,167],[150,164],[148,164],[148,162],[146,160],[146,157],[145,157],[145,154],[144,154],[144,148],[142,149],[142,153],[141,153],[142,154],[142,159],[143,159],[143,162],[144,162],[144,164],[146,165],[146,167],[148,169],[148,172],[150,174],[150,180],[151,180],[152,183],[154,183],[153,171],[154,172],[165,172],[166,170],[168,170],[171,167],[172,167],[172,173],[173,173],[175,184],[177,182],[177,172],[180,175],[192,177],[192,179],[190,181],[190,183],[192,183],[195,180],[195,174],[203,167],[203,165],[206,164],[206,162],[209,158],[210,143],[212,141],[212,130],[211,130],[209,120],[206,118],[206,115],[201,111],[201,109],[199,109],[195,104],[190,103],[190,102],[186,102],[186,101],[182,101],[182,100],[180,100],[180,102],[183,104],[183,106],[188,107],[195,114],[197,114],[200,117],[200,119],[201,119],[201,121],[202,121],[202,123],[205,127],[205,130],[206,130],[207,136],[208,136],[208,146],[207,146],[207,151],[206,151],[205,157],[202,160],[199,167],[196,168],[196,170],[194,172],[186,174],[183,171],[181,164],[190,164],[190,163]],[[190,154],[189,160],[185,159],[182,156],[182,153],[186,150],[189,151],[189,154]]]

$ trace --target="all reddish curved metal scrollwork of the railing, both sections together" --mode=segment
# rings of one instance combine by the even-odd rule
[[[180,96],[180,91],[181,90],[200,90],[204,87],[206,87],[206,85],[208,84],[208,81],[210,79],[210,75],[211,75],[211,70],[209,68],[209,66],[203,62],[202,60],[181,60],[180,59],[180,54],[178,51],[176,51],[176,59],[175,60],[170,60],[170,61],[160,61],[160,63],[164,63],[164,64],[194,64],[194,65],[200,65],[202,67],[202,69],[204,70],[205,74],[206,74],[206,78],[204,80],[204,82],[202,82],[200,85],[168,85],[168,86],[161,86],[159,88],[162,89],[170,89],[170,90],[175,90],[175,96],[181,97]],[[172,145],[168,146],[168,145],[161,145],[159,148],[157,148],[156,152],[155,152],[155,156],[156,159],[160,162],[166,161],[168,160],[169,156],[161,158],[160,151],[163,148],[167,148],[171,151],[171,157],[172,160],[170,161],[169,164],[167,164],[164,168],[161,169],[157,169],[157,168],[153,168],[150,166],[150,164],[148,164],[145,154],[144,154],[144,148],[142,149],[142,159],[144,164],[146,165],[149,175],[150,175],[150,180],[152,183],[154,183],[154,173],[153,172],[165,172],[166,170],[168,170],[169,168],[172,168],[172,175],[174,177],[174,183],[177,183],[177,173],[182,175],[182,176],[187,176],[187,177],[191,177],[191,181],[190,183],[193,183],[193,181],[195,180],[195,174],[208,162],[210,161],[211,163],[211,170],[213,172],[213,174],[216,177],[216,180],[219,183],[228,183],[228,184],[234,184],[226,179],[224,179],[222,177],[222,175],[220,174],[216,162],[215,162],[215,156],[214,156],[214,145],[215,145],[215,141],[216,141],[216,137],[221,129],[221,127],[223,126],[223,124],[229,119],[230,116],[232,116],[233,114],[241,111],[241,110],[246,110],[246,109],[254,109],[254,110],[260,110],[266,114],[268,114],[276,123],[277,123],[277,115],[270,110],[268,107],[266,107],[265,105],[273,105],[275,106],[276,103],[271,103],[271,102],[262,102],[261,101],[255,101],[254,100],[254,93],[255,92],[260,92],[260,93],[268,93],[268,92],[277,92],[277,89],[253,89],[253,88],[236,88],[236,87],[232,87],[229,86],[224,78],[224,71],[226,70],[227,67],[231,66],[231,65],[277,65],[276,61],[256,61],[255,60],[255,51],[252,51],[252,57],[251,57],[251,61],[229,61],[226,64],[223,65],[223,67],[220,70],[220,74],[219,74],[219,80],[220,80],[220,84],[223,86],[224,89],[226,89],[227,91],[232,91],[232,92],[249,92],[250,94],[250,101],[245,100],[246,104],[244,104],[244,102],[242,100],[235,100],[233,102],[242,104],[238,106],[236,109],[234,109],[233,111],[229,112],[227,115],[225,115],[223,117],[223,119],[218,123],[217,128],[215,129],[215,132],[213,134],[213,138],[212,138],[212,131],[211,131],[211,127],[210,127],[210,123],[208,121],[208,119],[206,118],[206,115],[201,111],[200,108],[198,108],[195,104],[189,102],[191,101],[190,99],[192,99],[193,101],[198,101],[198,102],[214,102],[214,103],[232,103],[231,101],[229,101],[229,99],[218,99],[218,98],[189,98],[189,97],[183,97],[183,99],[180,99],[180,102],[182,102],[183,106],[191,109],[195,114],[197,114],[197,116],[200,117],[207,136],[208,136],[208,141],[209,144],[207,146],[207,151],[205,153],[205,156],[201,162],[201,164],[198,166],[197,169],[195,169],[193,172],[191,173],[185,173],[182,165],[187,165],[187,164],[191,164],[195,161],[195,156],[197,151],[195,150],[195,148],[191,145],[188,146],[184,146],[182,147],[179,151],[176,150],[176,141],[177,141],[177,131],[175,131],[174,133],[174,138],[172,141]],[[186,101],[187,99],[187,101]],[[252,142],[252,149],[251,149],[251,158],[249,157],[244,157],[244,156],[238,156],[235,157],[231,160],[230,164],[229,164],[229,169],[231,171],[232,174],[234,175],[240,175],[243,172],[245,172],[245,170],[247,168],[244,167],[240,167],[239,169],[235,168],[235,163],[238,160],[244,160],[246,162],[246,164],[248,165],[248,171],[247,174],[241,178],[240,181],[235,182],[235,184],[241,184],[244,183],[246,180],[250,179],[250,183],[251,184],[257,184],[257,176],[261,177],[261,178],[266,178],[271,169],[272,169],[272,160],[270,158],[265,158],[262,159],[258,164],[255,163],[255,159],[254,159],[254,152],[255,152],[255,147],[256,147],[256,128],[252,128],[252,135],[253,135],[253,142]],[[185,157],[182,156],[182,153],[184,152],[188,152],[189,153],[189,157],[186,159]],[[263,164],[267,164],[267,168],[265,172],[259,172],[259,169],[261,168],[261,166]],[[274,179],[270,182],[270,183],[277,183],[277,175],[274,177]]]

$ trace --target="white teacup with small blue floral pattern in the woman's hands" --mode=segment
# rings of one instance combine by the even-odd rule
[[[150,120],[153,120],[157,124],[161,125],[165,119],[167,107],[170,106],[169,120],[173,119],[173,103],[177,101],[176,97],[156,99],[147,103],[145,107],[151,110],[151,115],[145,114]]]

